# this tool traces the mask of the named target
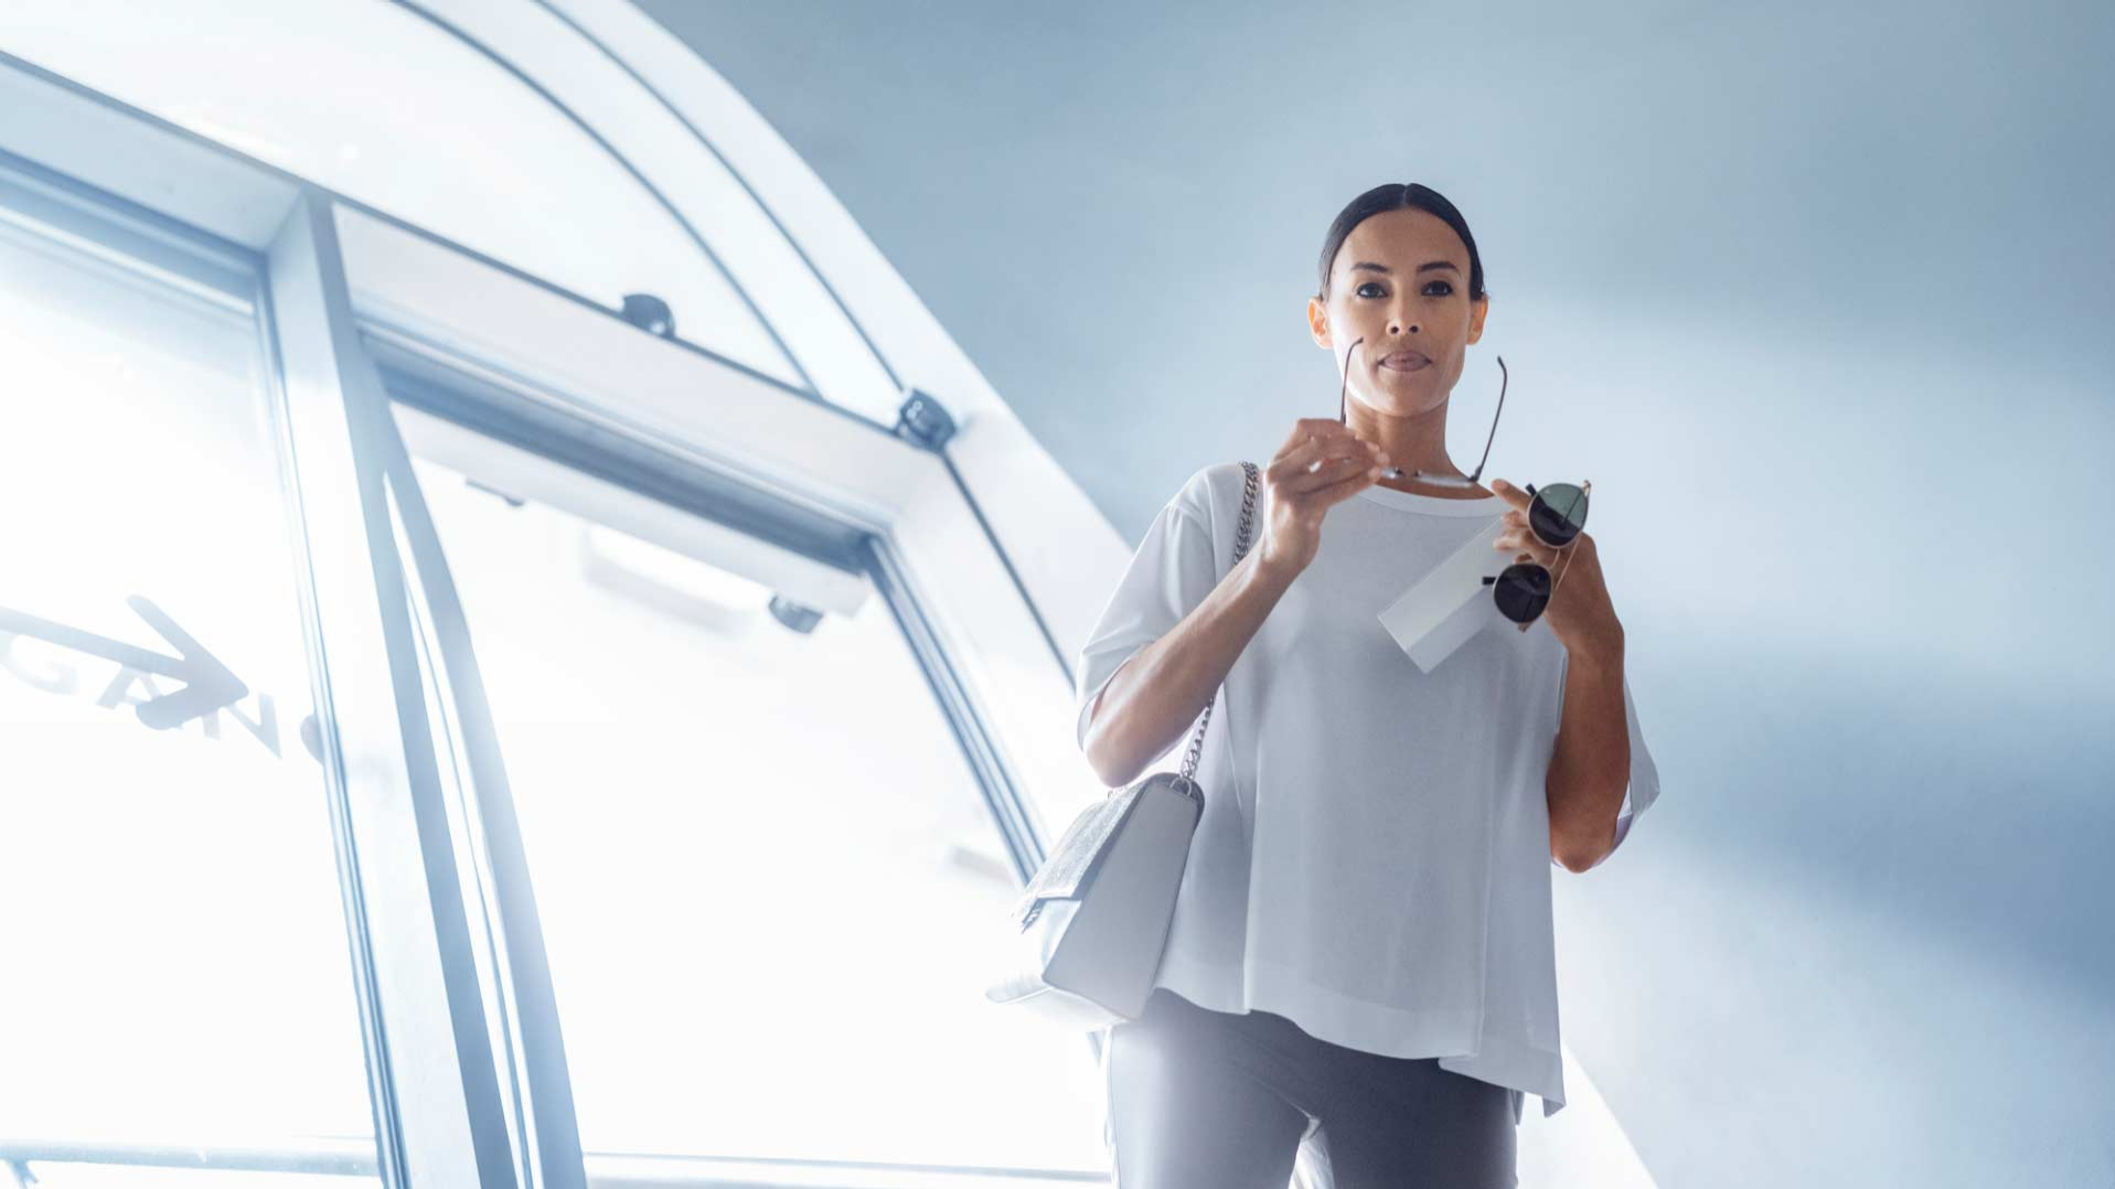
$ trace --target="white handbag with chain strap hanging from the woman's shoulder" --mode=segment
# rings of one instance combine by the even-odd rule
[[[1242,463],[1242,527],[1233,565],[1248,554],[1256,463]],[[1191,834],[1203,815],[1197,757],[1212,721],[1206,702],[1180,772],[1153,772],[1081,810],[1007,914],[1011,948],[983,996],[1045,1022],[1096,1030],[1136,1020],[1159,975],[1182,889]]]

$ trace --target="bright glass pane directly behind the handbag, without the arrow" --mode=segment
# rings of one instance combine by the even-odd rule
[[[1017,889],[886,603],[802,635],[744,578],[417,474],[586,1151],[1102,1172],[1085,1037],[983,999]]]

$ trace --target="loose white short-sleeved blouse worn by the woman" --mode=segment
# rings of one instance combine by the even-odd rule
[[[1203,468],[1146,529],[1079,656],[1081,747],[1117,669],[1233,565],[1242,489],[1242,463]],[[1265,504],[1258,489],[1250,550]],[[1493,605],[1485,630],[1419,673],[1377,618],[1506,508],[1368,487],[1328,510],[1313,563],[1218,692],[1155,986],[1214,1011],[1275,1011],[1337,1045],[1440,1058],[1512,1087],[1519,1121],[1521,1092],[1544,1115],[1565,1104],[1544,793],[1565,647]],[[1660,791],[1629,679],[1622,700],[1618,846]]]

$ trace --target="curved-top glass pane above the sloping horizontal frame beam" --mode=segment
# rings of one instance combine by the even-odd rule
[[[799,383],[711,256],[607,150],[398,4],[23,4],[0,49],[599,305],[660,296],[685,341]]]

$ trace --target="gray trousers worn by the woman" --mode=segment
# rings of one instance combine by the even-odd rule
[[[1117,1189],[1286,1189],[1320,1132],[1337,1189],[1514,1189],[1521,1092],[1157,988],[1102,1056]],[[1318,1157],[1311,1157],[1311,1161]]]

